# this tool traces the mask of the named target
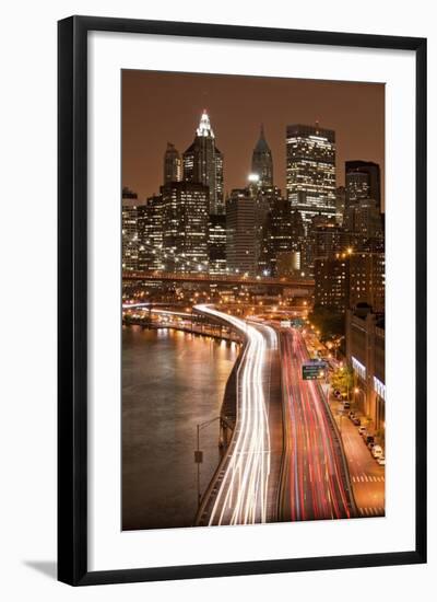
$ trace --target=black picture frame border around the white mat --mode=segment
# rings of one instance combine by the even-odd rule
[[[92,31],[333,45],[416,55],[416,542],[414,549],[316,558],[87,569],[87,34]],[[71,16],[58,23],[58,578],[72,586],[426,562],[426,39]]]

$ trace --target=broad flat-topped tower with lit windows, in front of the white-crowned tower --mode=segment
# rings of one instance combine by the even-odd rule
[[[161,187],[164,269],[208,269],[209,188],[193,182]]]

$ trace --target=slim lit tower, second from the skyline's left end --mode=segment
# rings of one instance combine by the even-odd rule
[[[163,197],[154,195],[138,206],[138,269],[163,269]]]

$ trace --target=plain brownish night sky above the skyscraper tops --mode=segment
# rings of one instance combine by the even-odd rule
[[[225,195],[246,185],[261,125],[282,192],[290,124],[335,131],[336,186],[344,185],[347,160],[378,163],[383,182],[383,84],[123,70],[122,88],[122,184],[142,201],[162,185],[167,142],[182,153],[203,109],[224,155]],[[383,208],[383,188],[381,197]]]

